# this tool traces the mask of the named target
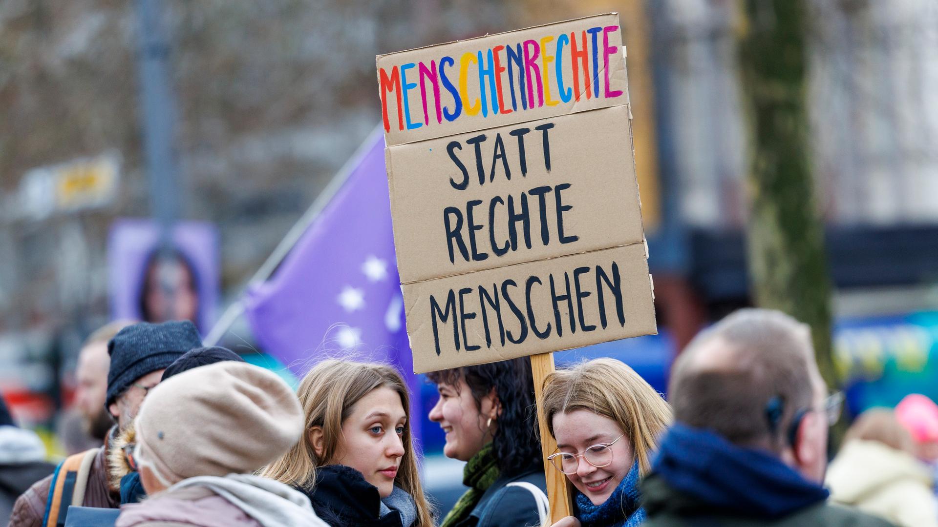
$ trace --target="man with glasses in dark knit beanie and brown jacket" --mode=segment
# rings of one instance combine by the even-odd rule
[[[13,505],[10,527],[41,527],[47,517],[64,523],[68,504],[73,497],[79,499],[74,496],[76,491],[83,492],[84,506],[118,508],[120,489],[115,489],[108,477],[109,444],[133,422],[147,392],[159,384],[163,370],[182,354],[201,346],[199,332],[188,321],[140,323],[121,329],[108,342],[111,369],[104,402],[117,425],[108,432],[102,447],[69,457],[54,474],[23,492]]]

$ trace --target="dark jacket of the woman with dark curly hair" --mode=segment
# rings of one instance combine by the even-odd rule
[[[536,527],[537,501],[531,492],[520,487],[508,487],[508,483],[526,481],[546,490],[544,471],[537,469],[514,476],[500,477],[485,490],[468,519],[458,527]]]

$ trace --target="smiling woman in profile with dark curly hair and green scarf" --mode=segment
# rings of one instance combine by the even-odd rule
[[[528,358],[428,377],[440,392],[430,419],[446,432],[443,453],[467,461],[462,483],[469,489],[440,527],[540,524],[547,495]]]

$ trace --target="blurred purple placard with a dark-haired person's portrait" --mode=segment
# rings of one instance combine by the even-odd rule
[[[191,320],[204,334],[215,323],[219,295],[218,232],[210,223],[175,224],[173,248],[159,252],[159,225],[118,219],[108,267],[111,316],[145,322]]]

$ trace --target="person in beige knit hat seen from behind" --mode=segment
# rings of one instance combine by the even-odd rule
[[[299,401],[273,372],[190,369],[150,392],[135,427],[133,459],[151,497],[125,505],[117,527],[325,525],[302,493],[252,475],[304,429]]]

